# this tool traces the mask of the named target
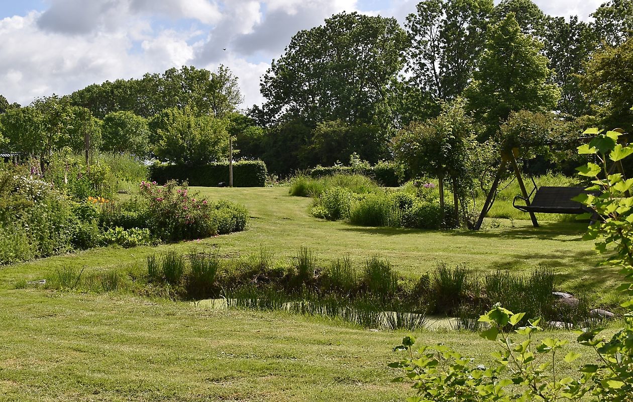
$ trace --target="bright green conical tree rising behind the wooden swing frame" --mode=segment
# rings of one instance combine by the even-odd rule
[[[491,136],[511,111],[550,111],[560,91],[548,84],[552,71],[542,44],[523,34],[514,15],[491,27],[486,51],[467,89],[468,107]]]

